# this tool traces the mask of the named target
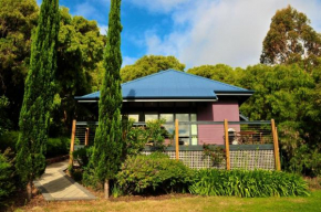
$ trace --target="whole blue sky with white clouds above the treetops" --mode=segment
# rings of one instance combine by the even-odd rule
[[[41,3],[41,0],[37,0]],[[108,25],[110,0],[60,0],[71,14]],[[259,63],[262,41],[278,9],[291,4],[321,32],[321,0],[122,0],[123,66],[174,55],[186,68]]]

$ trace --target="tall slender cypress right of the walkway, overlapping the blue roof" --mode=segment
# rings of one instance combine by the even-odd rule
[[[105,74],[99,103],[99,127],[93,156],[84,176],[87,183],[95,187],[104,186],[106,192],[108,180],[113,179],[120,169],[122,152],[121,32],[121,0],[112,0],[104,53]]]

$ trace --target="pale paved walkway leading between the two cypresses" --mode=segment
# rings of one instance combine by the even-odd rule
[[[46,201],[95,200],[86,189],[64,173],[68,160],[49,165],[34,186]]]

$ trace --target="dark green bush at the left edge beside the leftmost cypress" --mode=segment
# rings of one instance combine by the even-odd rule
[[[0,203],[3,198],[10,195],[14,190],[13,172],[14,167],[12,161],[7,157],[8,150],[3,153],[0,151]]]

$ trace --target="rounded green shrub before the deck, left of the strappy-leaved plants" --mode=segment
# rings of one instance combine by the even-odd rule
[[[128,157],[116,179],[126,193],[184,192],[193,173],[182,161],[155,152]]]

